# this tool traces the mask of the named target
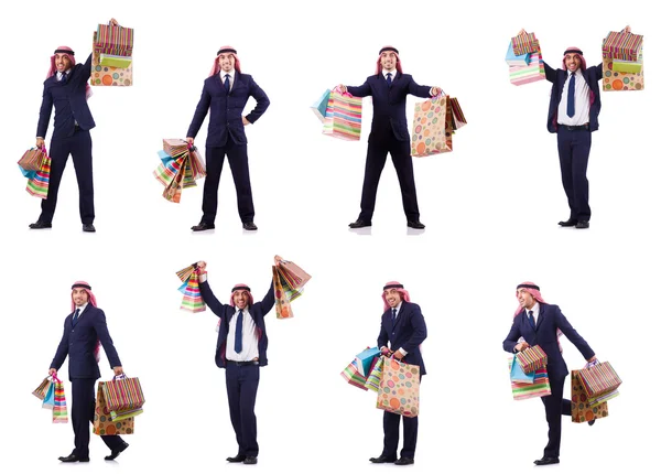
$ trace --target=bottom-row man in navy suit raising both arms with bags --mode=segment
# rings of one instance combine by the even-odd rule
[[[282,260],[275,256],[275,265]],[[229,417],[234,427],[239,452],[227,457],[230,463],[257,464],[257,417],[254,402],[259,386],[259,368],[268,364],[267,326],[264,316],[271,311],[275,299],[271,283],[267,295],[260,302],[252,300],[250,288],[236,284],[231,290],[229,304],[223,304],[214,295],[206,281],[206,262],[197,263],[199,271],[199,293],[218,321],[216,365],[225,369]]]

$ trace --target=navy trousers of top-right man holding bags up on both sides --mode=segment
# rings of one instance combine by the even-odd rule
[[[589,220],[587,159],[592,144],[589,130],[557,129],[557,152],[562,185],[570,203],[570,218]]]

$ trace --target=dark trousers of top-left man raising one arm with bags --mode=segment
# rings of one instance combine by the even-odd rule
[[[42,201],[42,213],[39,220],[52,223],[57,205],[57,192],[62,174],[66,168],[68,155],[74,160],[76,179],[78,180],[78,206],[83,224],[94,223],[94,183],[91,179],[91,137],[89,130],[77,130],[73,136],[51,142],[51,180],[48,197]]]

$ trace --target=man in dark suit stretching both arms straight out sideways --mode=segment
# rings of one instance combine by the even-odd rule
[[[365,181],[360,200],[360,215],[349,224],[350,228],[371,226],[377,200],[377,186],[381,171],[386,165],[388,153],[397,171],[402,192],[407,225],[423,229],[418,209],[413,162],[411,161],[411,137],[407,125],[407,96],[429,98],[441,94],[440,87],[419,86],[410,74],[402,73],[399,51],[392,46],[383,46],[377,61],[377,73],[367,78],[358,87],[339,85],[343,93],[356,97],[372,96],[372,127],[367,146],[365,163]]]

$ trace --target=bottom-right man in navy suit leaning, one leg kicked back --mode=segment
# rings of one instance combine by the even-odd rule
[[[502,348],[508,353],[517,353],[528,347],[539,345],[549,357],[549,383],[551,395],[542,397],[549,423],[549,443],[544,455],[537,460],[537,465],[560,463],[560,438],[562,432],[562,416],[572,414],[572,402],[563,399],[567,365],[562,357],[559,337],[561,334],[576,346],[587,362],[597,359],[595,352],[585,340],[572,327],[567,319],[555,304],[548,304],[540,293],[540,287],[527,281],[517,287],[517,309],[512,328],[502,342]],[[524,341],[519,342],[522,337]],[[594,424],[594,421],[589,422]]]

